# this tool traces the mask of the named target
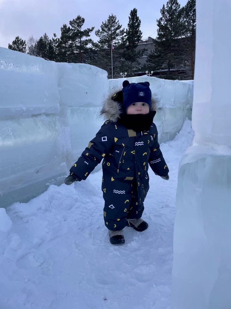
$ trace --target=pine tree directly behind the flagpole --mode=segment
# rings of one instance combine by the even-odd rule
[[[97,53],[92,64],[106,70],[108,78],[111,78],[111,44],[113,44],[113,75],[120,76],[119,66],[116,64],[121,58],[122,51],[120,47],[121,39],[124,36],[124,29],[122,29],[122,25],[120,25],[117,17],[113,14],[109,15],[108,19],[102,22],[100,29],[95,31],[95,35],[99,39],[97,43],[92,44]]]

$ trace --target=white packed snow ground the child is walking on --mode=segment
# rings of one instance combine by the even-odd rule
[[[51,185],[7,215],[2,209],[0,308],[169,308],[178,164],[192,137],[186,121],[161,144],[170,180],[149,170],[149,228],[126,227],[124,245],[111,245],[104,226],[102,171],[71,186]]]

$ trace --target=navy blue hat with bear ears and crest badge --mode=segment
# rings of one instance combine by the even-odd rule
[[[129,83],[128,80],[123,82],[123,105],[125,111],[128,107],[136,102],[144,102],[149,105],[151,111],[152,91],[150,84],[145,83]]]

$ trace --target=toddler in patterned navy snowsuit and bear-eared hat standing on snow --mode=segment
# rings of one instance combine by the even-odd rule
[[[153,118],[158,109],[150,84],[123,82],[123,89],[104,102],[101,115],[107,121],[70,169],[65,184],[85,180],[103,159],[103,217],[110,242],[125,242],[123,228],[144,231],[141,219],[149,189],[148,164],[168,180],[158,132]]]

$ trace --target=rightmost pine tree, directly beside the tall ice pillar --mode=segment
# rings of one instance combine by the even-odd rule
[[[194,78],[195,50],[196,50],[196,0],[188,0],[181,9],[182,32],[179,38],[179,49],[183,53],[184,61],[191,67]]]

